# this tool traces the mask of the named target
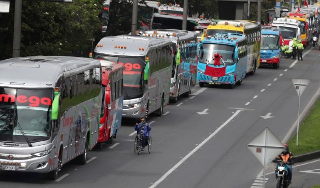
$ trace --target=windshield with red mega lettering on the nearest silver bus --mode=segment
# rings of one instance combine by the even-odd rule
[[[53,89],[0,87],[0,142],[49,139],[52,99]]]

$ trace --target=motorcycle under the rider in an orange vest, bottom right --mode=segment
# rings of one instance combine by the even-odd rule
[[[275,169],[276,173],[276,187],[287,188],[290,184],[289,182],[289,165],[283,161],[277,161],[277,168]]]

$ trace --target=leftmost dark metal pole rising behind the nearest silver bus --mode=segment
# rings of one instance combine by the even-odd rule
[[[15,1],[12,57],[20,57],[22,0]]]

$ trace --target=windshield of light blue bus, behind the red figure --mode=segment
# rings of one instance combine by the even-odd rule
[[[234,51],[235,46],[204,43],[200,47],[199,62],[203,64],[213,64],[214,54],[219,53],[219,55],[222,55],[223,62],[225,62],[226,65],[234,65]]]

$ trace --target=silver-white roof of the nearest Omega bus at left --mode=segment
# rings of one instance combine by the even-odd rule
[[[84,57],[16,57],[0,61],[0,85],[20,88],[53,88],[62,74],[69,76],[98,67],[100,67],[98,60]]]

